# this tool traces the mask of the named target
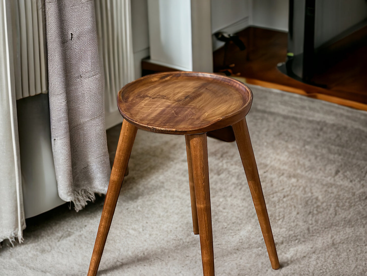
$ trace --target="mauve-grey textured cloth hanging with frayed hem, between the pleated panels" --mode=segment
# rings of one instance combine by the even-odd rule
[[[52,152],[61,199],[80,210],[105,193],[103,67],[92,0],[46,0]]]

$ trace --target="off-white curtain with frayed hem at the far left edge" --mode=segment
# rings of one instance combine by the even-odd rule
[[[25,228],[19,159],[10,1],[0,2],[0,242],[23,240]]]

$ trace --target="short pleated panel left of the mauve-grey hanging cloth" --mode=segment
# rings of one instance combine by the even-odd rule
[[[7,1],[11,7],[17,100],[48,92],[44,0]]]

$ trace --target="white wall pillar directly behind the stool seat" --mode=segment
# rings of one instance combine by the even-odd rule
[[[210,0],[148,0],[150,62],[212,72]]]

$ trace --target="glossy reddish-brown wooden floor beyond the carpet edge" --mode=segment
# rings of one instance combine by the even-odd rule
[[[213,54],[214,71],[230,68],[246,82],[327,100],[367,110],[367,45],[340,57],[326,72],[313,79],[325,84],[320,88],[288,77],[277,69],[286,60],[287,33],[249,27],[239,32],[247,49],[240,51],[233,43]],[[225,56],[224,56],[225,54]],[[230,64],[235,64],[229,67]]]

